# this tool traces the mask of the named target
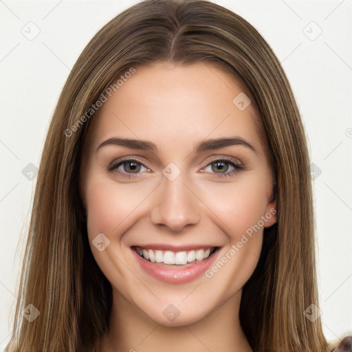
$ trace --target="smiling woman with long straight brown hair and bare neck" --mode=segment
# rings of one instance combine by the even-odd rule
[[[5,351],[331,351],[313,229],[269,45],[219,5],[143,1],[58,101]]]

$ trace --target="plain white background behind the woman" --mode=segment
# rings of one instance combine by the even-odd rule
[[[58,95],[80,52],[136,2],[0,0],[0,351],[12,328],[36,181],[22,170],[39,166]],[[329,340],[352,333],[352,0],[216,2],[259,30],[292,84],[321,170],[314,188],[323,328]],[[30,21],[32,33],[40,30],[32,41],[21,32]]]

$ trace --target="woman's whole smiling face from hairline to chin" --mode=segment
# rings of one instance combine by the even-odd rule
[[[201,63],[137,67],[91,127],[81,186],[114,300],[177,326],[241,297],[276,210],[236,81]]]

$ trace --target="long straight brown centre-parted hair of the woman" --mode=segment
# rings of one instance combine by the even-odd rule
[[[250,23],[208,1],[180,0],[148,0],[125,10],[94,36],[69,74],[43,149],[5,351],[92,352],[107,331],[111,285],[91,254],[79,192],[83,142],[96,117],[90,109],[113,80],[161,61],[221,66],[256,106],[278,221],[265,230],[259,263],[243,287],[240,320],[252,349],[329,351],[320,318],[304,315],[319,305],[309,155],[292,89]],[[30,304],[40,312],[32,322],[21,315]]]

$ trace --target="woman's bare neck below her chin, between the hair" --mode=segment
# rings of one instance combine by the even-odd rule
[[[241,291],[205,318],[190,325],[166,327],[151,320],[113,289],[109,331],[101,352],[251,352],[239,322]]]

